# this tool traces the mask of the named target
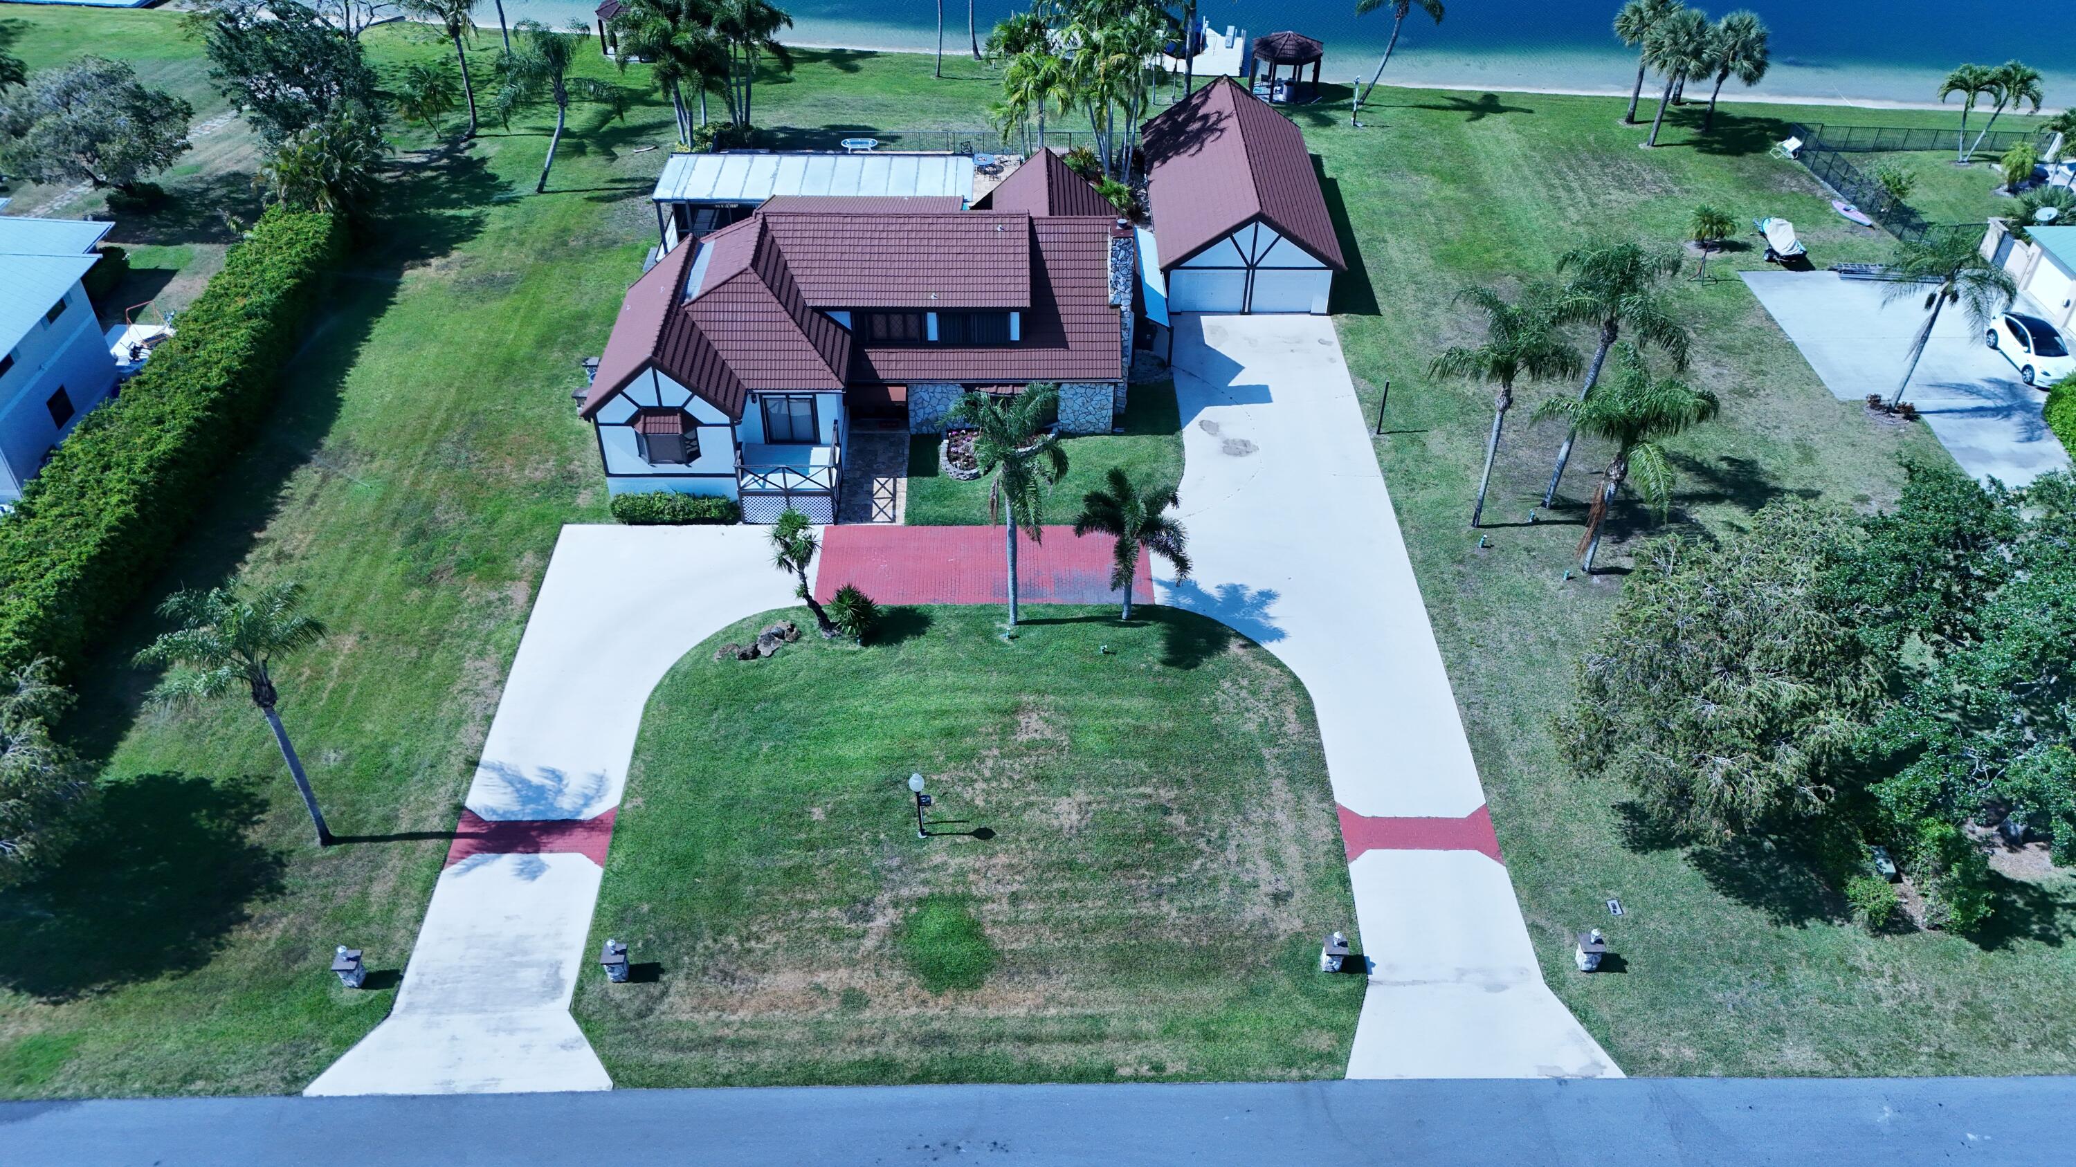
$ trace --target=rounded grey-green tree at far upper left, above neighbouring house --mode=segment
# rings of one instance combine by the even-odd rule
[[[0,168],[133,193],[187,154],[193,106],[145,89],[125,60],[81,56],[0,96]]]

